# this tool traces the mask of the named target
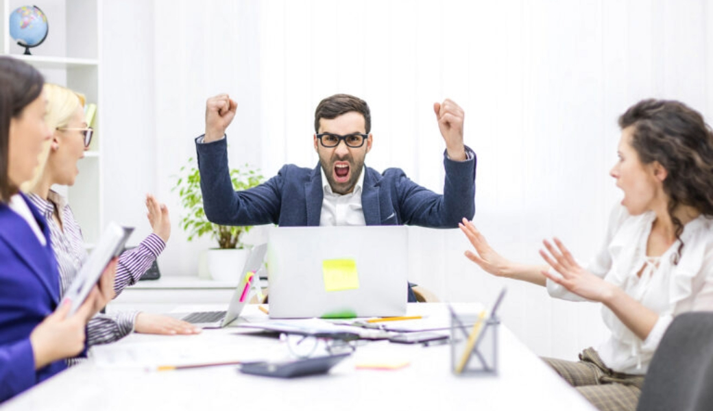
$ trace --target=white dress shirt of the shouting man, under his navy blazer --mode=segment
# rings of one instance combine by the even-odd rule
[[[324,197],[322,199],[322,212],[319,214],[319,225],[324,226],[364,226],[364,209],[361,207],[361,192],[364,187],[364,173],[366,167],[361,167],[359,180],[356,181],[354,190],[349,194],[336,194],[329,187],[327,175],[324,174],[324,169],[319,167],[322,172],[322,191]]]

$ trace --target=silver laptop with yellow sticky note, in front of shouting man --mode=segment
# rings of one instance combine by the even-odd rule
[[[406,227],[274,227],[267,241],[270,318],[403,316]]]

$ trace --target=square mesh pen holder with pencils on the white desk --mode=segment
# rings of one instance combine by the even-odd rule
[[[451,367],[456,375],[498,373],[498,318],[451,313]]]

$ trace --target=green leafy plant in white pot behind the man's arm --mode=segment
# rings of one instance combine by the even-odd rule
[[[255,187],[262,183],[263,178],[259,170],[247,164],[242,169],[230,170],[230,180],[236,191]],[[237,281],[239,267],[245,265],[248,255],[240,239],[251,227],[223,226],[208,221],[203,210],[200,172],[193,158],[188,159],[188,165],[180,168],[180,176],[172,191],[176,190],[185,212],[180,219],[180,227],[188,233],[188,241],[205,235],[217,241],[218,248],[207,250],[203,258],[205,271],[215,280]]]

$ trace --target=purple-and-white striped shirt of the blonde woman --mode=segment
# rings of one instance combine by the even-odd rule
[[[28,197],[47,220],[52,248],[59,266],[60,293],[63,296],[88,258],[81,228],[66,199],[57,192],[50,190],[47,199],[42,199],[34,193],[28,194]],[[56,215],[61,226],[53,215]],[[121,293],[126,286],[136,283],[164,248],[165,242],[160,236],[150,234],[134,249],[124,251],[119,256],[116,267],[116,294]],[[87,324],[87,344],[106,344],[123,338],[133,331],[137,314],[138,311],[97,314]],[[69,363],[72,364],[73,361],[70,360]]]

